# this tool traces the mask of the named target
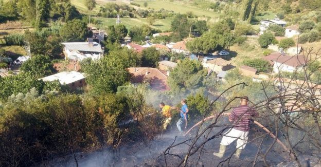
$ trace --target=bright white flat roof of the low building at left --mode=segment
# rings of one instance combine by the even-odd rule
[[[73,82],[82,80],[84,78],[85,77],[83,73],[76,72],[76,71],[63,71],[51,76],[44,77],[42,78],[42,80],[49,81],[49,82],[58,80],[60,84],[63,85],[63,84],[73,83]]]

